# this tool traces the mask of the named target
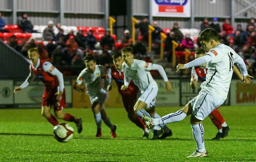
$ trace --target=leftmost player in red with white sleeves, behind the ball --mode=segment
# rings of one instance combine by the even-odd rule
[[[53,126],[59,124],[57,119],[74,122],[78,128],[78,133],[81,133],[83,130],[82,119],[75,118],[62,111],[63,108],[66,107],[63,74],[50,62],[40,60],[37,48],[31,48],[28,51],[28,56],[32,61],[30,74],[20,87],[15,88],[14,93],[26,88],[36,77],[40,78],[45,84],[42,101],[42,115]],[[54,116],[56,116],[57,119],[50,112],[51,106],[54,108]]]

